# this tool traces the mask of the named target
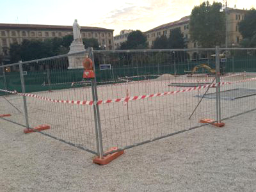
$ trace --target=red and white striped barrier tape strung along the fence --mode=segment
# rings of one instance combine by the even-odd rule
[[[160,97],[163,95],[173,95],[176,93],[184,93],[184,92],[191,92],[194,90],[201,90],[204,88],[208,88],[208,87],[216,87],[217,85],[219,86],[223,86],[224,84],[234,84],[234,83],[243,83],[246,81],[256,81],[256,78],[251,78],[251,79],[244,79],[244,80],[240,80],[240,81],[234,81],[234,82],[220,82],[220,83],[212,83],[212,84],[207,84],[204,86],[196,86],[193,88],[186,88],[183,90],[176,90],[176,91],[172,91],[172,92],[164,92],[164,93],[154,93],[154,94],[150,94],[150,95],[139,95],[139,96],[132,96],[132,97],[124,97],[124,98],[120,98],[120,99],[107,99],[107,100],[98,100],[97,104],[107,104],[107,103],[111,103],[111,102],[128,102],[129,100],[140,100],[140,99],[147,99],[147,98],[152,98],[152,97]],[[34,97],[34,98],[38,98],[38,99],[42,99],[42,100],[47,100],[50,102],[61,102],[61,103],[67,103],[67,104],[81,104],[81,105],[92,105],[94,102],[93,100],[58,100],[58,99],[49,99],[46,97],[41,97],[39,95],[35,95],[35,94],[31,94],[31,93],[18,93],[16,91],[11,92],[8,90],[1,90],[0,92],[7,92],[7,93],[12,93],[12,94],[17,94],[20,96],[26,96],[26,97]]]

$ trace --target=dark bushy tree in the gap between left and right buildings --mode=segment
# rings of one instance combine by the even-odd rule
[[[132,31],[120,49],[148,49],[147,38],[140,30]]]

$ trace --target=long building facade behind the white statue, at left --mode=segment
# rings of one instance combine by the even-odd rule
[[[95,38],[99,45],[114,49],[113,29],[81,26],[81,38]],[[35,24],[0,24],[0,54],[9,56],[10,45],[25,39],[44,41],[46,38],[72,35],[72,26],[50,26]]]

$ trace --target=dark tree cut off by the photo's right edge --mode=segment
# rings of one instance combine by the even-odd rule
[[[256,10],[252,8],[244,15],[244,20],[238,24],[239,32],[243,36],[242,47],[256,47]]]

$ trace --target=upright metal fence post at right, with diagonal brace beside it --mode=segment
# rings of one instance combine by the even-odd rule
[[[216,115],[218,124],[221,122],[221,106],[220,106],[220,47],[216,46]]]

